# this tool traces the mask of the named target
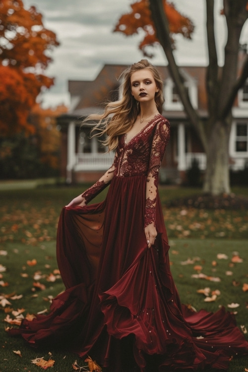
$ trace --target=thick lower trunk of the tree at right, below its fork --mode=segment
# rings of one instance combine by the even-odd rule
[[[203,191],[211,195],[230,193],[229,127],[227,123],[215,123],[208,138],[206,151],[207,167]]]

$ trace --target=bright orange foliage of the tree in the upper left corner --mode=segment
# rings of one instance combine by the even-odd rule
[[[54,80],[44,74],[52,61],[50,51],[59,43],[44,28],[34,6],[22,0],[0,1],[0,130],[2,135],[20,130],[32,133],[28,123],[31,107],[41,91]]]

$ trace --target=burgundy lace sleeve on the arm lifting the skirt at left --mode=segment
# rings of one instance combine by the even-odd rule
[[[114,176],[114,171],[116,169],[116,162],[117,153],[115,155],[112,166],[107,170],[107,172],[94,185],[90,186],[82,193],[82,197],[84,197],[86,204],[89,203],[95,196],[97,196],[111,183],[111,180]]]

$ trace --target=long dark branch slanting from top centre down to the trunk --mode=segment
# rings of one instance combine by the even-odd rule
[[[191,105],[189,100],[186,87],[184,85],[184,80],[182,75],[180,74],[179,68],[175,62],[173,50],[171,46],[171,39],[170,39],[170,30],[167,16],[164,12],[162,0],[150,0],[150,10],[152,19],[156,28],[156,33],[158,40],[165,52],[165,55],[168,60],[168,69],[170,71],[170,75],[178,89],[178,93],[180,95],[181,101],[184,105],[185,111],[189,117],[189,120],[194,125],[195,129],[197,130],[204,149],[207,148],[207,141],[206,135],[204,130],[204,125],[200,120],[197,112]]]

